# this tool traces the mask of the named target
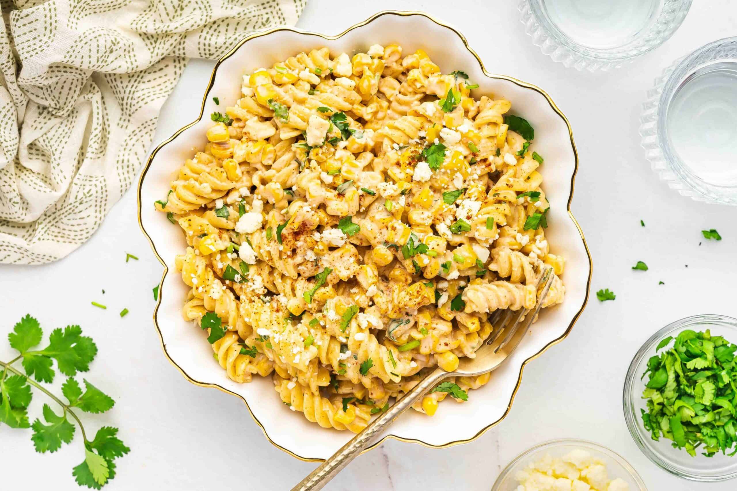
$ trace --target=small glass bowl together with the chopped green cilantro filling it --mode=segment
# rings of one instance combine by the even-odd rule
[[[629,434],[654,464],[675,476],[705,482],[737,477],[737,455],[729,455],[737,444],[727,438],[727,449],[719,449],[724,428],[729,434],[737,421],[737,414],[724,409],[735,400],[731,387],[737,386],[732,345],[737,345],[737,319],[686,317],[654,333],[629,364],[623,395]],[[727,375],[734,375],[733,382]],[[668,400],[661,403],[663,395]],[[667,411],[651,417],[654,400]]]

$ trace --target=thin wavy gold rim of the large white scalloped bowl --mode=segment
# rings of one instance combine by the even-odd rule
[[[573,187],[574,187],[574,183],[575,183],[575,180],[576,180],[576,173],[579,170],[579,152],[576,150],[576,143],[573,141],[573,130],[571,130],[570,123],[568,122],[568,119],[565,117],[565,115],[562,113],[562,111],[559,109],[559,107],[556,106],[555,102],[553,102],[553,99],[551,99],[551,96],[549,96],[547,92],[545,92],[541,88],[537,87],[537,85],[532,85],[532,84],[530,84],[528,82],[523,82],[522,80],[517,80],[514,77],[509,77],[507,75],[500,75],[500,74],[492,74],[492,73],[489,73],[489,71],[486,71],[486,68],[483,66],[483,62],[481,61],[481,58],[468,45],[468,41],[467,41],[466,37],[464,35],[462,35],[461,32],[458,32],[458,30],[456,30],[455,28],[449,26],[448,24],[444,24],[443,22],[437,20],[436,18],[433,18],[431,15],[428,15],[427,13],[419,12],[419,11],[416,11],[416,10],[405,10],[405,11],[384,10],[383,12],[376,13],[376,14],[372,15],[371,17],[369,17],[368,19],[366,19],[366,21],[359,22],[358,24],[354,24],[351,27],[349,27],[348,29],[344,30],[343,32],[340,32],[340,34],[334,35],[334,36],[328,36],[328,35],[320,34],[318,32],[305,31],[303,29],[297,29],[297,28],[294,28],[294,27],[275,27],[273,29],[268,29],[268,30],[263,31],[263,32],[257,32],[255,34],[251,34],[251,35],[246,36],[245,38],[243,38],[242,40],[240,40],[238,43],[236,43],[228,52],[226,52],[226,54],[223,54],[223,56],[220,57],[220,60],[217,60],[217,63],[215,63],[215,66],[212,68],[212,74],[210,75],[210,80],[209,80],[208,85],[207,85],[207,87],[205,89],[205,94],[204,94],[203,99],[202,99],[202,105],[200,107],[200,115],[197,117],[197,119],[195,119],[195,121],[192,121],[189,124],[186,124],[184,127],[181,127],[179,130],[175,131],[175,133],[172,134],[169,138],[167,138],[166,140],[162,141],[161,144],[158,144],[158,146],[156,146],[156,148],[153,149],[153,151],[148,156],[148,158],[146,160],[146,164],[145,164],[144,169],[143,169],[143,172],[141,173],[141,177],[139,178],[138,195],[137,195],[137,201],[138,201],[138,222],[139,222],[139,227],[141,227],[141,230],[144,233],[144,236],[146,236],[146,239],[148,240],[148,243],[151,246],[151,250],[153,250],[153,254],[156,255],[156,258],[158,259],[158,262],[161,263],[161,266],[164,266],[164,273],[161,275],[161,281],[159,282],[158,300],[156,301],[156,308],[154,308],[154,311],[153,311],[153,324],[156,327],[156,331],[158,332],[158,338],[159,338],[159,341],[161,342],[161,349],[164,351],[164,355],[167,357],[167,359],[170,361],[170,363],[172,365],[174,365],[177,368],[177,370],[179,370],[179,372],[181,372],[182,375],[184,375],[184,378],[186,378],[192,384],[195,384],[195,385],[200,386],[200,387],[212,387],[214,389],[219,389],[219,390],[221,390],[223,392],[226,392],[227,394],[231,394],[231,395],[234,395],[234,396],[242,399],[243,402],[245,403],[246,409],[248,409],[248,413],[251,414],[251,417],[254,419],[254,421],[256,422],[256,424],[259,425],[259,428],[261,428],[261,431],[263,431],[264,436],[266,437],[266,439],[268,439],[268,441],[270,442],[270,444],[271,445],[274,445],[276,448],[279,448],[279,450],[282,450],[282,451],[284,451],[286,453],[289,453],[291,456],[295,457],[296,459],[300,459],[301,461],[304,461],[304,462],[324,462],[325,459],[316,458],[316,457],[305,457],[305,456],[297,455],[293,451],[290,451],[289,449],[282,447],[282,445],[279,445],[276,442],[274,442],[271,439],[271,437],[269,437],[269,434],[266,431],[266,428],[264,428],[264,425],[262,425],[262,423],[258,420],[258,418],[256,418],[254,416],[253,411],[251,411],[251,407],[248,406],[248,401],[245,400],[245,398],[243,398],[242,395],[237,394],[236,392],[233,392],[231,390],[228,390],[225,387],[220,386],[218,384],[209,384],[209,383],[203,383],[203,382],[200,382],[200,381],[196,381],[194,378],[190,377],[184,371],[184,369],[182,369],[178,364],[176,364],[176,362],[174,360],[172,360],[172,358],[169,356],[169,353],[167,353],[167,348],[164,345],[164,337],[161,335],[161,330],[158,328],[157,315],[158,315],[158,307],[159,307],[159,305],[161,305],[161,294],[162,294],[162,289],[163,289],[163,286],[164,286],[164,278],[166,278],[167,273],[169,272],[169,268],[167,268],[167,264],[164,262],[164,260],[161,258],[161,256],[158,255],[158,251],[156,250],[156,246],[153,244],[153,241],[151,240],[150,236],[148,235],[146,229],[143,226],[143,222],[141,220],[141,210],[142,210],[141,192],[142,192],[144,177],[146,177],[146,174],[148,172],[148,169],[150,169],[151,163],[153,161],[153,158],[156,156],[156,154],[158,153],[158,151],[161,148],[163,148],[164,145],[166,145],[166,144],[170,143],[170,141],[174,140],[184,130],[186,130],[189,127],[192,127],[192,125],[194,125],[194,124],[197,124],[198,121],[200,121],[200,119],[202,119],[202,116],[203,116],[203,113],[204,113],[204,110],[205,110],[205,104],[206,104],[206,100],[207,100],[207,94],[209,93],[210,89],[212,88],[212,85],[214,84],[215,73],[217,72],[217,68],[220,66],[220,63],[223,63],[223,61],[227,60],[228,57],[231,57],[231,55],[234,54],[234,52],[236,52],[238,49],[240,49],[240,47],[243,46],[245,43],[247,43],[249,40],[254,39],[254,38],[260,38],[261,36],[269,35],[269,34],[271,34],[273,32],[279,32],[279,31],[290,31],[290,32],[296,32],[298,34],[317,36],[318,38],[323,38],[323,39],[326,39],[326,40],[335,40],[335,39],[338,39],[338,38],[342,37],[343,35],[346,35],[346,33],[351,32],[353,29],[357,29],[358,27],[363,27],[366,24],[369,24],[369,23],[375,21],[377,18],[383,17],[384,15],[399,15],[401,17],[409,17],[411,15],[420,15],[422,17],[425,17],[425,18],[429,19],[430,21],[433,21],[435,24],[438,24],[441,27],[445,27],[447,29],[450,29],[451,31],[455,32],[455,34],[458,35],[459,38],[461,38],[461,40],[463,41],[464,46],[466,47],[466,49],[473,55],[473,57],[475,57],[476,61],[478,61],[478,64],[481,67],[481,71],[483,71],[483,74],[486,75],[486,77],[489,77],[489,78],[492,78],[492,79],[508,80],[509,82],[514,82],[515,84],[520,85],[521,87],[525,87],[525,88],[529,88],[529,89],[531,89],[533,91],[537,91],[538,93],[540,93],[542,96],[545,97],[545,99],[548,101],[548,104],[551,105],[551,108],[553,109],[553,111],[555,111],[555,113],[558,114],[563,119],[563,121],[565,121],[565,124],[566,124],[566,126],[568,128],[568,135],[570,136],[570,145],[571,145],[571,147],[573,149],[573,157],[574,157],[574,160],[575,160],[575,166],[573,167],[573,174],[571,174],[571,177],[570,177],[570,195],[568,197],[568,202],[567,202],[567,207],[566,208],[567,208],[568,216],[570,216],[570,219],[573,221],[573,225],[576,225],[576,230],[579,231],[579,235],[581,236],[581,241],[583,241],[583,244],[584,244],[584,250],[586,250],[586,255],[587,255],[588,259],[589,259],[589,278],[587,279],[587,282],[586,282],[586,294],[584,295],[584,302],[581,304],[581,308],[579,309],[579,311],[576,312],[576,315],[573,316],[573,319],[571,319],[570,324],[568,325],[565,333],[563,333],[562,336],[560,336],[559,338],[553,339],[553,341],[549,342],[547,345],[545,345],[544,347],[542,347],[542,349],[539,350],[537,353],[535,353],[533,356],[530,356],[525,361],[523,361],[523,364],[520,367],[520,375],[517,377],[517,384],[514,386],[514,391],[512,391],[511,398],[509,399],[509,403],[507,404],[507,408],[504,411],[504,414],[502,414],[502,416],[498,420],[494,421],[493,423],[489,423],[489,425],[486,425],[485,427],[481,428],[481,430],[478,431],[478,433],[476,433],[473,437],[470,437],[468,439],[458,439],[458,440],[455,440],[453,442],[444,443],[443,445],[433,445],[431,443],[423,442],[420,439],[404,438],[404,437],[399,437],[397,435],[388,434],[388,435],[385,435],[378,442],[374,443],[374,445],[371,445],[370,447],[366,448],[366,450],[364,450],[362,453],[368,452],[368,451],[370,451],[373,448],[377,448],[379,445],[381,445],[387,439],[397,439],[397,440],[402,441],[402,442],[419,443],[419,445],[423,445],[423,446],[425,446],[427,448],[448,448],[448,447],[453,447],[455,445],[461,445],[463,443],[472,442],[475,439],[478,439],[478,437],[481,437],[481,435],[483,435],[484,433],[486,433],[486,431],[489,431],[490,428],[493,428],[494,426],[496,426],[497,424],[499,424],[507,416],[507,414],[509,414],[509,410],[511,409],[511,405],[514,402],[514,396],[517,395],[517,390],[520,389],[520,384],[522,383],[522,374],[523,374],[523,371],[525,370],[525,365],[528,364],[528,362],[530,362],[530,361],[534,360],[535,358],[537,358],[538,356],[542,355],[542,353],[545,353],[545,351],[548,350],[549,347],[558,344],[559,342],[561,342],[563,339],[565,339],[568,336],[568,334],[570,333],[570,330],[573,328],[573,325],[576,323],[576,321],[581,316],[581,313],[584,311],[584,308],[586,307],[586,303],[587,303],[588,298],[589,298],[589,290],[590,290],[590,286],[591,286],[591,275],[592,275],[592,272],[593,272],[593,261],[591,259],[591,253],[589,251],[589,247],[586,244],[586,239],[584,238],[584,233],[581,230],[581,226],[579,225],[579,222],[576,221],[576,217],[573,216],[573,213],[571,213],[571,211],[570,211],[570,202],[573,199]]]

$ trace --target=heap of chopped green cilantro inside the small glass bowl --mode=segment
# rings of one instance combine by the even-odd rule
[[[673,347],[668,345],[673,342]],[[643,391],[647,411],[640,409],[643,426],[652,439],[661,436],[707,457],[727,453],[737,443],[737,397],[735,380],[737,345],[710,331],[682,331],[675,339],[666,337],[647,362]],[[737,453],[737,447],[727,455]]]

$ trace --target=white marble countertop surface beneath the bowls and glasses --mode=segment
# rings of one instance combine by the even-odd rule
[[[625,68],[590,74],[553,63],[533,46],[516,4],[310,0],[298,27],[335,34],[379,10],[423,10],[463,32],[489,71],[545,88],[570,119],[579,149],[571,208],[594,259],[592,294],[609,288],[617,299],[599,303],[593,296],[565,342],[528,365],[506,420],[475,442],[436,450],[390,440],[358,457],[325,489],[489,490],[500,468],[525,448],[576,437],[621,453],[650,490],[733,490],[734,482],[691,483],[649,462],[626,430],[621,392],[629,361],[657,328],[693,314],[737,317],[730,278],[737,275],[736,209],[697,203],[668,189],[650,170],[638,135],[640,104],[654,78],[677,57],[734,35],[737,7],[730,0],[694,1],[663,46]],[[155,144],[195,118],[199,107],[181,107],[178,95],[202,92],[212,65],[187,67],[164,105]],[[703,240],[700,230],[710,228],[724,240]],[[126,252],[139,261],[126,264]],[[649,271],[630,269],[639,260]],[[68,258],[46,266],[0,266],[2,338],[27,313],[41,321],[46,335],[79,324],[93,336],[99,354],[84,375],[116,406],[85,415],[85,421],[92,430],[119,426],[132,449],[116,461],[117,476],[105,489],[289,489],[315,464],[270,445],[240,399],[189,384],[164,358],[151,320],[151,289],[159,278],[161,266],[139,230],[136,195],[129,190]],[[666,284],[659,286],[660,280]],[[108,310],[91,307],[91,300]],[[121,319],[124,307],[130,314]],[[0,360],[10,354],[7,342],[0,342]],[[40,414],[44,402],[36,394],[31,414]],[[0,426],[0,448],[4,489],[80,489],[71,477],[71,467],[84,458],[78,435],[55,455],[40,455],[30,431]]]

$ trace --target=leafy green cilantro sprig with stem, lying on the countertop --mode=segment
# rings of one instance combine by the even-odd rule
[[[74,467],[72,476],[80,486],[99,490],[115,476],[113,460],[130,452],[130,448],[117,437],[118,428],[103,426],[93,439],[88,439],[84,425],[76,410],[89,413],[102,413],[115,404],[112,398],[97,389],[86,379],[83,390],[74,378],[77,372],[89,370],[89,364],[97,355],[97,345],[88,336],[82,335],[78,325],[69,325],[63,330],[57,328],[49,336],[49,346],[43,350],[32,350],[41,343],[43,330],[38,320],[30,315],[23,317],[13,332],[8,334],[10,347],[20,353],[13,360],[0,361],[0,424],[10,428],[32,428],[31,440],[38,453],[53,453],[63,443],[74,439],[75,427],[68,417],[71,416],[82,433],[85,448],[84,461]],[[21,361],[25,374],[13,367]],[[55,376],[52,368],[56,361],[57,370],[67,375],[61,392],[67,402],[53,395],[39,382],[51,383]],[[33,378],[35,378],[35,380]],[[61,406],[61,414],[57,414],[48,404],[43,405],[41,418],[33,423],[28,420],[28,405],[31,402],[31,386],[41,390],[49,398]]]

